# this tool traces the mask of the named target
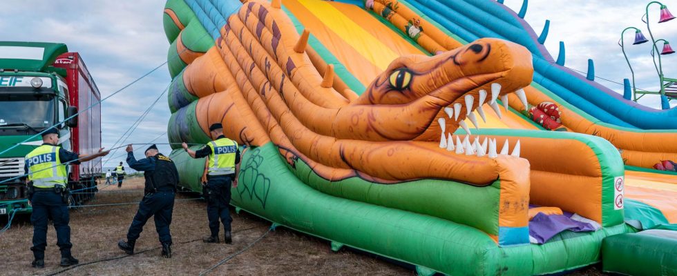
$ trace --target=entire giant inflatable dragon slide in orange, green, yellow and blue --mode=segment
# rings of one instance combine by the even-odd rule
[[[557,86],[552,69],[541,70],[537,42],[468,14],[448,19],[479,12],[487,26],[533,32],[514,12],[449,2],[169,0],[169,139],[206,143],[222,123],[246,146],[237,210],[423,275],[539,275],[599,262],[602,238],[636,231],[624,223],[627,202],[677,220],[677,190],[665,188],[673,175],[626,172],[677,159],[677,144],[661,143],[677,139],[674,130],[587,114],[562,96],[578,92],[575,83]],[[182,186],[200,191],[204,159],[171,157]],[[598,228],[534,242],[535,206]]]

